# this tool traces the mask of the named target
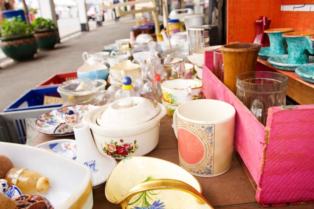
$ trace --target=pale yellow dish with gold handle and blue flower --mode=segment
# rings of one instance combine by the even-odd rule
[[[201,193],[200,183],[189,172],[151,157],[124,158],[105,188],[107,200],[123,209],[212,209]]]

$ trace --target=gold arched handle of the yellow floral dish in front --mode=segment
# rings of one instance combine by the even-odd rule
[[[208,208],[214,209],[208,201],[198,192],[194,187],[187,183],[174,179],[155,179],[146,182],[142,182],[134,186],[122,200],[115,201],[114,203],[120,204],[122,209],[127,209],[130,204],[130,200],[137,194],[152,190],[179,190],[189,193],[195,197],[195,201],[198,204],[207,204]],[[107,195],[106,195],[107,196]],[[113,201],[112,201],[113,202]]]

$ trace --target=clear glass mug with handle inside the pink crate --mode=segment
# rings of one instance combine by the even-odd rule
[[[236,96],[264,126],[268,107],[286,105],[288,77],[278,72],[252,71],[237,76]]]

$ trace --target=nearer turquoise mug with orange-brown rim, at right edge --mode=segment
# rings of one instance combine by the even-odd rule
[[[282,35],[288,43],[289,64],[309,63],[309,53],[314,54],[314,42],[309,39],[311,35],[314,35],[314,31],[298,31]]]

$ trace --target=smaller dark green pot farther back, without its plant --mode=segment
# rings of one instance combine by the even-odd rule
[[[49,29],[37,31],[34,36],[37,40],[38,48],[41,50],[53,49],[58,41],[57,30]]]

